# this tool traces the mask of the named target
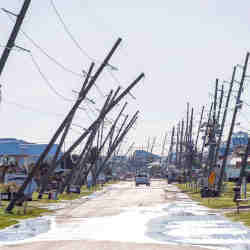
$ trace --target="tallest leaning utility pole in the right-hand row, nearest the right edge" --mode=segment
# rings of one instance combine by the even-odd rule
[[[241,76],[241,80],[240,80],[240,87],[239,87],[238,94],[237,94],[236,105],[234,107],[233,118],[232,118],[231,127],[230,127],[230,131],[228,134],[228,139],[227,139],[227,146],[226,146],[224,159],[223,159],[222,166],[221,166],[221,173],[220,173],[220,178],[219,178],[219,182],[218,182],[218,194],[219,195],[221,193],[221,186],[222,186],[222,182],[223,182],[224,171],[226,168],[227,155],[229,154],[229,148],[230,148],[231,138],[232,138],[232,134],[233,134],[233,130],[234,130],[236,116],[237,116],[238,110],[242,104],[240,97],[241,97],[241,93],[243,90],[243,85],[244,85],[244,81],[245,81],[245,77],[246,77],[248,59],[249,59],[249,52],[247,52],[247,54],[246,54],[245,63],[243,66],[243,72],[242,72],[242,76]]]

